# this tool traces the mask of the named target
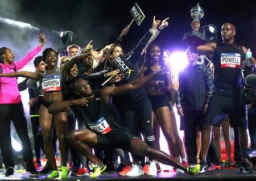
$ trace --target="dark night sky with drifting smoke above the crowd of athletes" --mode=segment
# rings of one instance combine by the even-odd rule
[[[239,1],[239,0],[238,0]],[[223,23],[236,26],[235,41],[256,52],[256,5],[254,1],[0,1],[0,17],[30,23],[40,31],[19,28],[0,22],[0,47],[14,49],[14,53],[25,54],[37,44],[36,34],[47,35],[46,47],[60,48],[59,35],[50,30],[74,31],[81,47],[93,40],[94,48],[113,43],[123,28],[131,21],[129,10],[137,2],[146,18],[140,26],[133,23],[128,35],[123,39],[126,52],[131,50],[152,25],[152,17],[163,20],[170,17],[169,26],[155,42],[172,50],[185,49],[180,43],[184,32],[191,30],[190,10],[200,3],[205,14],[201,26],[214,24],[218,29]],[[24,51],[24,52],[23,52]],[[17,57],[17,58],[18,58]]]

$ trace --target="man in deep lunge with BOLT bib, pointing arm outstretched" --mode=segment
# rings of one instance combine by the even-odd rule
[[[90,177],[97,177],[106,169],[100,159],[93,155],[90,147],[126,149],[135,154],[156,159],[166,165],[177,167],[191,175],[199,172],[200,165],[185,167],[163,151],[151,148],[131,133],[130,129],[123,127],[122,119],[112,103],[112,96],[138,89],[156,75],[163,73],[163,70],[155,71],[155,73],[134,79],[125,85],[107,86],[100,91],[92,91],[87,81],[76,79],[72,83],[71,89],[80,99],[54,103],[48,108],[50,113],[56,113],[68,111],[72,107],[83,117],[88,129],[69,132],[68,140],[81,154],[94,163],[94,171]]]

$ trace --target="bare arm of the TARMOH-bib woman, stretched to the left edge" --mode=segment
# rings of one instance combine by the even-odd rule
[[[0,74],[0,77],[24,77],[39,80],[42,75],[42,72],[18,71],[13,73]]]

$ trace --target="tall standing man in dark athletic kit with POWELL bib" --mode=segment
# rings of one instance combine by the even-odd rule
[[[193,23],[193,22],[192,22]],[[231,23],[221,27],[222,43],[208,43],[199,47],[191,47],[200,54],[213,55],[214,91],[210,98],[202,134],[202,159],[200,172],[207,171],[206,157],[211,140],[212,128],[228,115],[230,122],[238,127],[242,152],[241,172],[254,172],[246,161],[246,107],[242,100],[242,62],[245,60],[247,48],[234,43],[236,28]],[[255,58],[249,58],[252,66]]]

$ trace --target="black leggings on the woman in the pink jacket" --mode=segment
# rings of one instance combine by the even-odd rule
[[[0,104],[0,148],[3,156],[3,163],[6,169],[14,167],[13,148],[11,146],[11,120],[14,128],[22,142],[22,154],[27,169],[34,167],[31,142],[28,136],[27,120],[24,116],[23,104]]]

